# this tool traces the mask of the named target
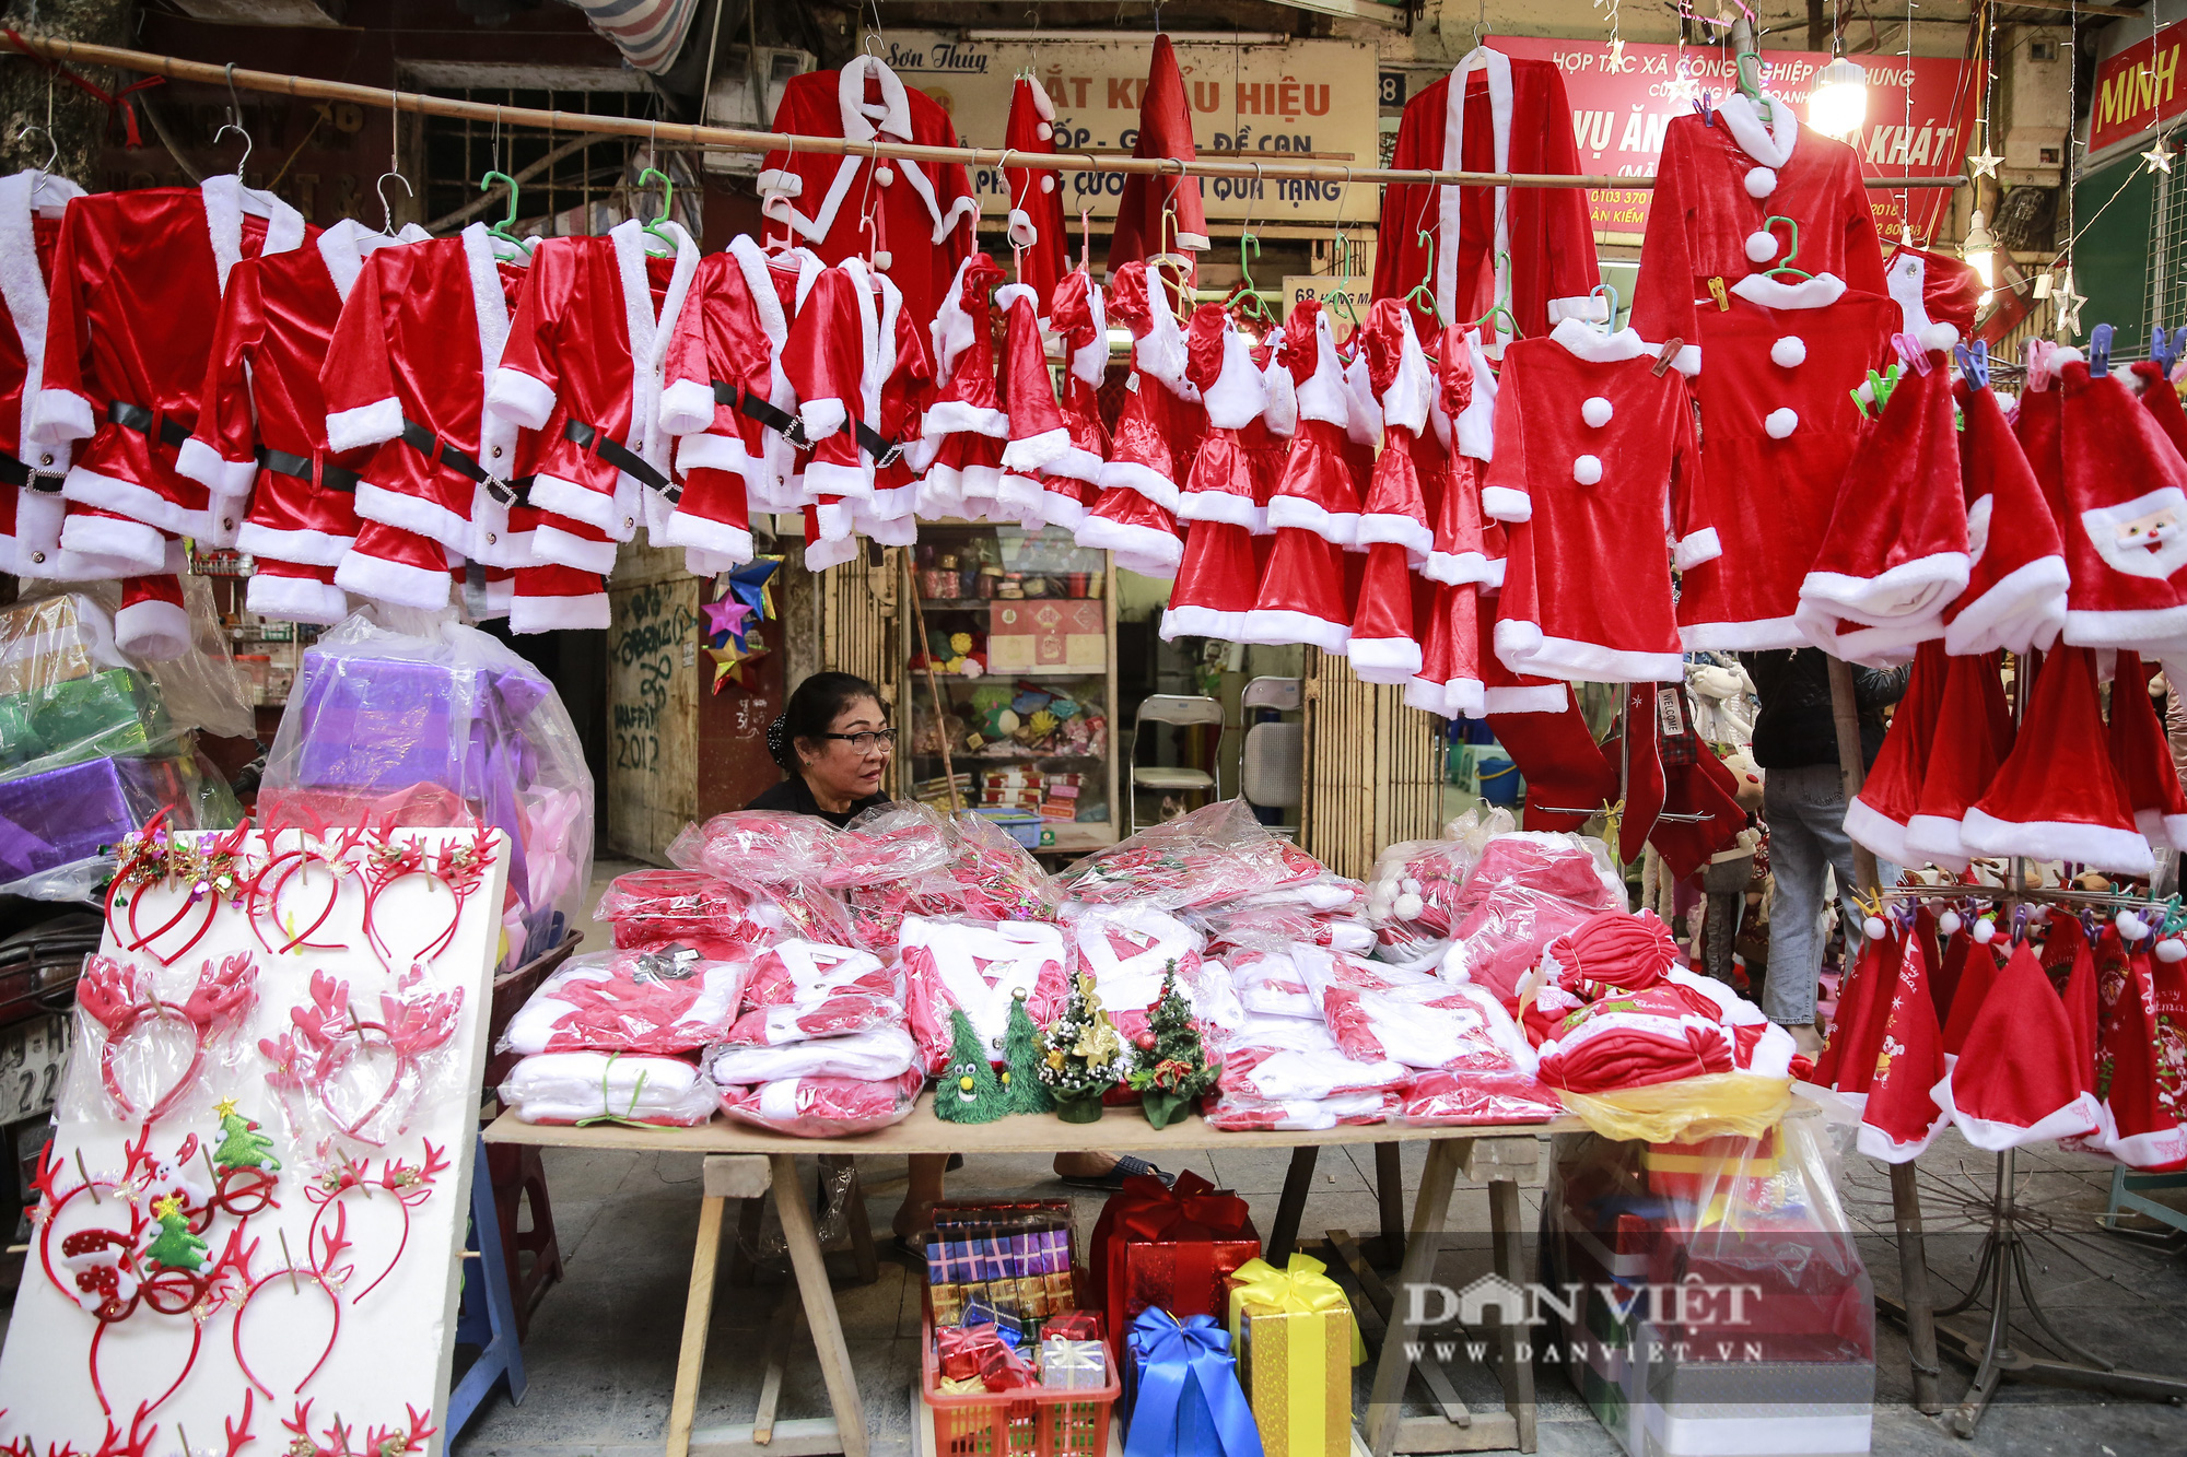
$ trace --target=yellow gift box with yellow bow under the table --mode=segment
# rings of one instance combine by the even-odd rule
[[[1268,1457],[1352,1450],[1352,1367],[1367,1359],[1343,1286],[1321,1260],[1247,1260],[1229,1275],[1231,1350]]]

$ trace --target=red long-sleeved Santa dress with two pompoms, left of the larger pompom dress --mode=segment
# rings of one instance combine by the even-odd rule
[[[1496,656],[1518,674],[1684,678],[1671,606],[1682,571],[1721,556],[1693,403],[1640,335],[1566,319],[1505,350],[1496,459],[1481,510],[1513,523]],[[1675,545],[1656,551],[1671,523]]]

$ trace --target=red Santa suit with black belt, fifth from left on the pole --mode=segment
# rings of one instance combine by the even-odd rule
[[[486,407],[538,433],[529,466],[540,562],[606,575],[617,543],[641,518],[647,532],[665,529],[680,494],[660,389],[698,243],[678,223],[663,230],[674,258],[647,256],[636,219],[604,238],[547,238],[531,256]]]

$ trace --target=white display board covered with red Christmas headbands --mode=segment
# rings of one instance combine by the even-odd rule
[[[173,847],[79,982],[0,1446],[444,1450],[505,838]]]

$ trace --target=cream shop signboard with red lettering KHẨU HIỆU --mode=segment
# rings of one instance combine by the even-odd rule
[[[1139,140],[1139,96],[1153,37],[1056,42],[975,42],[929,31],[888,31],[875,46],[890,70],[956,118],[967,147],[1002,147],[1010,85],[1030,72],[1056,105],[1056,149],[1131,155]],[[1365,42],[1286,39],[1273,44],[1177,46],[1192,107],[1192,140],[1203,158],[1255,162],[1321,160],[1378,166],[1376,48]],[[1010,210],[999,166],[975,166],[973,190],[989,219]],[[1063,212],[1115,217],[1122,173],[1063,173]],[[1371,223],[1380,188],[1293,177],[1205,177],[1209,221],[1258,225],[1332,223],[1338,212]]]

